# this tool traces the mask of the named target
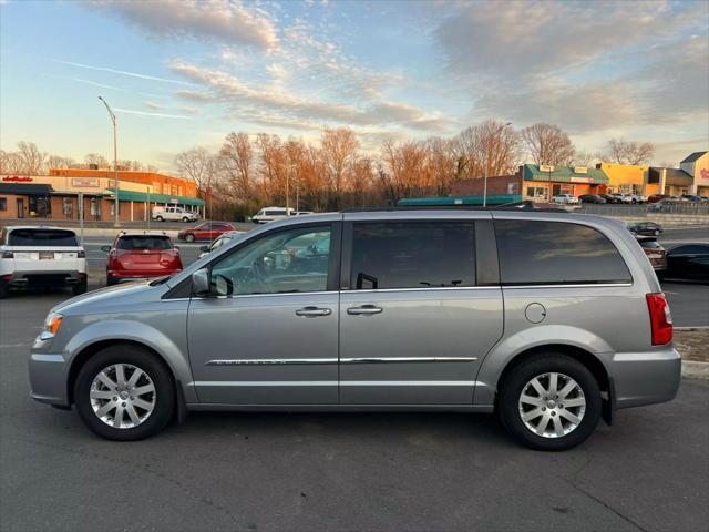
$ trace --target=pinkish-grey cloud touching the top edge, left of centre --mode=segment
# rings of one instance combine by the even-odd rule
[[[263,50],[278,45],[271,18],[238,0],[103,0],[90,4],[107,10],[160,38],[213,40]]]

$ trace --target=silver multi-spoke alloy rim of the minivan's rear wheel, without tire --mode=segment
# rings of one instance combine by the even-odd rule
[[[522,422],[531,432],[543,438],[562,438],[582,423],[586,397],[569,376],[542,374],[522,388],[518,410]]]

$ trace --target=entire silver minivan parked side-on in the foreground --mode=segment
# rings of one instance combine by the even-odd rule
[[[625,226],[505,211],[274,222],[173,277],[54,307],[32,397],[145,438],[187,410],[495,411],[574,447],[680,380],[665,296]]]

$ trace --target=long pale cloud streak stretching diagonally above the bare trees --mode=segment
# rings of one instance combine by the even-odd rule
[[[427,113],[405,103],[376,101],[360,106],[330,103],[302,98],[292,92],[253,89],[224,71],[205,69],[183,61],[173,63],[171,70],[202,86],[201,91],[177,91],[177,96],[191,101],[248,105],[278,112],[281,120],[307,119],[351,125],[399,124],[412,129],[433,130],[443,130],[451,123],[443,116]]]

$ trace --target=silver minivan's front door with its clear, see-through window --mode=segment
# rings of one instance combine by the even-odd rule
[[[202,402],[338,402],[336,242],[329,223],[281,228],[213,262],[213,293],[192,297],[187,325]]]

